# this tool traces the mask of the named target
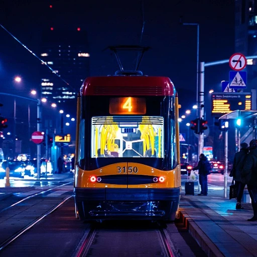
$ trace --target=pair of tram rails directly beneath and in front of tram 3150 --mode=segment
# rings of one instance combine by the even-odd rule
[[[159,228],[156,229],[155,231],[157,232],[156,236],[159,235],[160,240],[155,239],[153,241],[161,242],[160,244],[162,244],[162,245],[160,245],[160,249],[162,251],[162,256],[179,257],[180,254],[175,249],[166,229],[162,228],[162,226],[160,224],[158,224],[158,226],[159,226]],[[91,228],[89,228],[85,231],[85,233],[84,233],[83,237],[81,238],[81,241],[78,244],[77,248],[75,249],[72,257],[86,257],[89,254],[90,248],[93,247],[94,240],[95,239],[96,239],[96,241],[99,240],[99,233],[101,233],[101,229],[96,228],[96,226],[92,224]],[[102,232],[102,233],[104,233],[104,232]],[[118,233],[118,231],[116,231],[116,233]],[[137,233],[137,231],[135,231],[135,233]],[[124,238],[124,239],[127,239],[127,238]],[[97,246],[98,246],[98,248],[100,248],[99,245],[97,245]],[[145,247],[148,247],[148,246],[145,246]],[[143,249],[142,252],[144,252],[144,245],[141,245],[141,248]],[[91,254],[92,254],[92,249],[90,251],[90,256],[91,256]],[[109,253],[109,254],[111,255],[111,253]],[[127,254],[129,254],[129,253],[125,253],[123,255],[127,256]],[[92,256],[94,256],[94,254],[92,254]],[[122,255],[120,255],[120,256],[122,256]],[[142,256],[145,256],[145,255],[143,254]]]

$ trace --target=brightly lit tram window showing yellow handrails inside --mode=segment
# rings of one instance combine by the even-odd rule
[[[92,117],[91,158],[164,157],[160,116]]]

